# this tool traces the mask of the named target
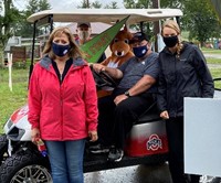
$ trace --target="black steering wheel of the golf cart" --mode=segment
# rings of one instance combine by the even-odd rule
[[[99,73],[97,73],[93,69],[93,66],[91,66],[91,69],[92,69],[94,79],[96,82],[96,86],[98,88],[102,88],[104,86],[115,88],[117,86],[117,83],[106,72],[101,71]]]

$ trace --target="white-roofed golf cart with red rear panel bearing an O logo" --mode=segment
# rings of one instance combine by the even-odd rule
[[[72,11],[46,10],[34,13],[28,19],[28,21],[32,22],[34,25],[30,74],[34,65],[36,29],[44,24],[49,25],[50,31],[52,31],[54,22],[70,23],[81,22],[82,20],[88,22],[115,22],[112,26],[113,30],[120,30],[125,22],[128,25],[135,23],[143,24],[144,22],[158,21],[160,19],[173,17],[178,18],[180,15],[182,15],[182,12],[178,9],[76,9]],[[102,35],[109,35],[108,33],[112,32],[112,28],[106,30],[105,34]],[[97,51],[97,57],[99,57],[99,54],[108,46],[116,33],[108,36],[108,41],[105,42],[103,49]],[[98,36],[93,39],[95,42],[92,40],[88,42],[87,47],[84,45],[82,49],[90,54],[90,46],[96,44],[96,40],[99,39]],[[93,57],[88,61],[93,63],[97,60]],[[113,87],[114,84],[112,79],[107,75],[104,75],[99,76],[97,74],[95,80],[102,80],[102,86],[107,85]],[[101,88],[101,86],[97,87]],[[48,157],[42,157],[35,144],[31,142],[31,125],[28,121],[28,106],[18,109],[4,125],[4,134],[0,137],[0,182],[52,182]],[[159,164],[167,160],[167,153],[168,147],[165,121],[159,118],[156,104],[154,104],[133,127],[127,139],[125,157],[120,162],[109,163],[106,160],[106,154],[95,155],[85,151],[84,172],[136,164]]]

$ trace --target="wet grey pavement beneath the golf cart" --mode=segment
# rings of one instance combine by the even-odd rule
[[[167,163],[85,173],[84,179],[85,183],[171,183]]]

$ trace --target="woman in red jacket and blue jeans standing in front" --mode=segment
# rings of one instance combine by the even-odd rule
[[[53,183],[83,183],[85,138],[97,140],[97,97],[91,69],[67,28],[55,29],[29,87],[32,141],[45,141]]]

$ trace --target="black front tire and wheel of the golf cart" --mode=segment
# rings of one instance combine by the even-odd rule
[[[52,183],[48,158],[40,154],[15,153],[0,166],[2,183]]]

